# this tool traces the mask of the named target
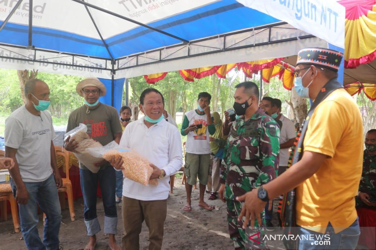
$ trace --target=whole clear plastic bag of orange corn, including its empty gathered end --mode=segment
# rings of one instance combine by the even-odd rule
[[[150,180],[150,176],[153,174],[150,162],[129,148],[121,148],[112,141],[104,147],[89,148],[87,151],[93,156],[103,157],[107,161],[110,161],[112,157],[115,157],[115,160],[122,157],[123,169],[121,171],[123,171],[124,177],[143,185],[158,185],[158,180]]]

